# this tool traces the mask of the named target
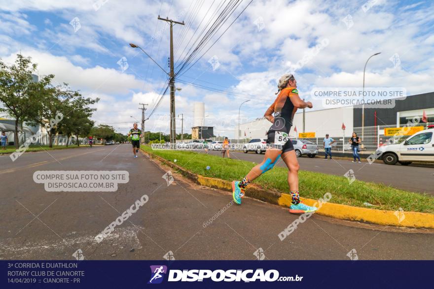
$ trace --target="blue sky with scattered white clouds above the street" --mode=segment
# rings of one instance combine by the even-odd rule
[[[0,58],[13,63],[21,52],[38,64],[39,75],[54,74],[55,84],[99,97],[97,125],[126,133],[141,119],[139,103],[147,103],[146,118],[152,115],[145,130],[168,133],[169,94],[156,107],[167,75],[129,43],[168,71],[170,29],[158,15],[184,21],[173,27],[177,66],[227,2],[0,0]],[[433,92],[433,11],[430,0],[242,0],[197,58],[203,56],[177,76],[176,114],[191,132],[193,103],[205,102],[205,125],[232,137],[240,105],[249,100],[241,123],[262,117],[289,71],[299,96],[325,109],[310,91],[361,87],[363,66],[377,52],[366,67],[366,87],[401,87],[408,96]],[[180,133],[181,117],[176,124]]]

